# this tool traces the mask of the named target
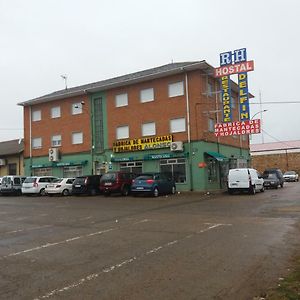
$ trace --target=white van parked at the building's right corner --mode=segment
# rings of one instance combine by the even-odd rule
[[[248,191],[249,194],[264,192],[264,180],[255,169],[230,169],[227,181],[228,193]]]

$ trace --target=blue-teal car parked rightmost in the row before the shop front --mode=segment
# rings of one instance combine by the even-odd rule
[[[171,175],[166,173],[143,173],[136,177],[131,185],[132,195],[150,194],[158,197],[162,194],[175,194],[176,185]]]

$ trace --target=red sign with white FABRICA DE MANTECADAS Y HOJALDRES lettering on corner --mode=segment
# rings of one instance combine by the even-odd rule
[[[215,124],[215,136],[260,133],[260,119]]]

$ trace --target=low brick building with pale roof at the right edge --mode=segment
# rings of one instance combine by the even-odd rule
[[[283,172],[300,173],[300,141],[254,144],[250,146],[253,168],[263,172],[268,168],[279,168]]]

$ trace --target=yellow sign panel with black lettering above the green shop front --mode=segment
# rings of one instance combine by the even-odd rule
[[[118,153],[169,148],[172,141],[173,136],[171,134],[132,140],[119,140],[113,143],[113,152]]]

